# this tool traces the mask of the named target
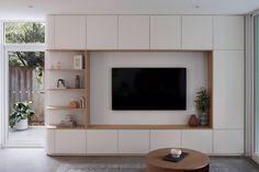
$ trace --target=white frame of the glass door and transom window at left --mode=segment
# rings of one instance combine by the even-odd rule
[[[9,139],[9,51],[44,51],[46,55],[46,38],[44,44],[40,43],[15,43],[15,44],[5,44],[5,33],[4,33],[4,23],[7,22],[43,22],[45,21],[0,21],[0,77],[2,87],[0,87],[0,91],[2,91],[3,96],[0,98],[1,104],[1,147],[22,147],[22,148],[31,148],[31,147],[44,147],[44,140],[10,140]],[[45,26],[45,37],[46,37],[46,26]],[[46,119],[46,117],[45,117]],[[44,138],[45,139],[45,138]]]

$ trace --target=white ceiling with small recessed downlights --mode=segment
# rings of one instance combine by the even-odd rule
[[[1,20],[46,14],[245,14],[259,0],[0,0]]]

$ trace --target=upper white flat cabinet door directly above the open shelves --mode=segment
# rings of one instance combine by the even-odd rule
[[[55,16],[55,48],[86,49],[86,16]]]

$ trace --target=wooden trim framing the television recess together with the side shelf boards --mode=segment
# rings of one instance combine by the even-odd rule
[[[90,51],[86,50],[63,50],[63,49],[48,49],[48,53],[79,53],[85,55],[85,69],[46,69],[48,72],[83,72],[85,74],[85,87],[80,89],[56,89],[56,88],[49,88],[46,89],[47,92],[55,93],[55,92],[82,92],[82,95],[86,98],[86,108],[70,108],[67,106],[52,106],[48,105],[46,106],[46,110],[48,111],[81,111],[81,114],[85,115],[86,123],[83,127],[76,127],[72,129],[212,129],[213,128],[213,51],[212,50],[166,50],[166,51],[201,51],[206,54],[207,58],[207,91],[209,94],[211,95],[211,106],[210,106],[210,112],[209,112],[209,126],[198,126],[198,127],[190,127],[188,125],[93,125],[90,123]],[[105,51],[105,50],[93,50],[93,51]],[[119,51],[119,50],[112,50],[112,51]],[[120,50],[120,51],[132,51],[132,50]],[[134,50],[136,51],[136,50]],[[143,50],[143,51],[148,51],[148,50]],[[149,51],[161,51],[161,50],[149,50]],[[56,124],[49,125],[52,126],[52,129],[70,129],[69,127],[57,127]],[[49,128],[49,126],[47,128]]]

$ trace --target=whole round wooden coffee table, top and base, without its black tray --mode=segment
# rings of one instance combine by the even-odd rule
[[[199,151],[181,149],[188,156],[178,162],[162,160],[170,148],[149,152],[146,158],[146,172],[210,172],[210,158]]]

